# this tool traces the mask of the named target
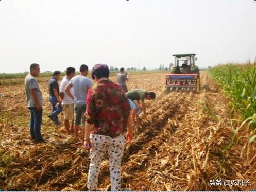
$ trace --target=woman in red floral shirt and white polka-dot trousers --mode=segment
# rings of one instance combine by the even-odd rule
[[[108,65],[94,65],[92,79],[95,85],[87,94],[84,136],[84,147],[90,149],[91,156],[87,185],[90,191],[97,188],[100,163],[105,151],[109,154],[111,190],[121,189],[124,146],[126,141],[130,142],[133,138],[128,99],[121,86],[108,78]]]

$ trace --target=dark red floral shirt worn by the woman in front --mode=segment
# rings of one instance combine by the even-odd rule
[[[101,80],[88,91],[86,121],[93,124],[94,134],[114,138],[124,133],[130,110],[120,85],[109,79]]]

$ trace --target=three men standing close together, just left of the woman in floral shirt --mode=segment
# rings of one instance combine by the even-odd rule
[[[53,77],[49,80],[49,100],[52,104],[52,113],[48,115],[59,127],[58,114],[64,112],[64,126],[67,134],[74,131],[74,137],[78,138],[79,126],[82,124],[84,133],[85,119],[83,118],[86,112],[86,98],[89,88],[92,86],[91,80],[87,77],[88,66],[80,66],[80,74],[75,76],[75,68],[68,67],[66,76],[60,83],[60,71],[55,71]]]

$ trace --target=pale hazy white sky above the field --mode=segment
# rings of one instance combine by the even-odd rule
[[[158,68],[196,53],[199,67],[256,56],[253,0],[1,0],[0,73]]]

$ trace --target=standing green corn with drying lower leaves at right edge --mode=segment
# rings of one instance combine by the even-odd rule
[[[250,148],[252,148],[251,150],[254,149],[252,144],[256,138],[256,64],[255,62],[254,64],[247,62],[218,65],[211,68],[209,74],[228,98],[231,122],[236,122],[231,142],[224,147],[223,151],[229,149],[235,141],[246,137],[247,141],[243,149],[247,149],[247,156],[249,156]],[[238,126],[237,123],[241,125]],[[248,135],[241,136],[238,132],[245,125],[252,131]]]

